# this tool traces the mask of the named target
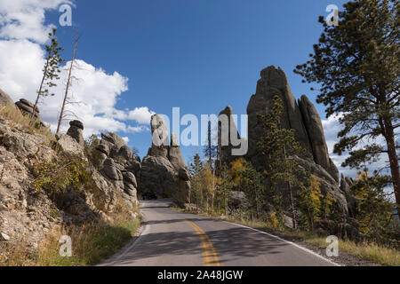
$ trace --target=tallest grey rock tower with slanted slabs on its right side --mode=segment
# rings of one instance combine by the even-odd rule
[[[277,95],[284,103],[281,126],[295,131],[296,139],[306,150],[303,158],[322,166],[339,185],[339,171],[329,157],[324,128],[313,103],[303,95],[299,104],[294,98],[284,71],[278,67],[267,67],[260,73],[257,91],[247,106],[249,115],[249,153],[248,157],[260,167],[263,157],[258,154],[257,142],[264,135],[257,114],[268,114]]]

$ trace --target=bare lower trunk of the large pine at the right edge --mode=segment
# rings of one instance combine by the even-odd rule
[[[385,120],[385,129],[386,129],[385,138],[388,146],[390,171],[393,179],[393,188],[395,190],[397,212],[398,212],[398,209],[400,209],[400,173],[399,173],[398,159],[396,153],[395,134],[392,122]]]

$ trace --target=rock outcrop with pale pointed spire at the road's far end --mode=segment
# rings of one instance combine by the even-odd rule
[[[168,130],[161,115],[151,118],[152,146],[141,162],[140,193],[156,193],[158,197],[172,197],[175,204],[184,208],[188,202],[190,182],[185,160],[175,134],[168,144]]]

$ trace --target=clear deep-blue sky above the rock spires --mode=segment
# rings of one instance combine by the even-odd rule
[[[308,59],[328,4],[346,1],[307,0],[116,0],[77,1],[73,27],[59,27],[63,56],[69,59],[75,28],[82,34],[77,58],[112,75],[128,79],[128,91],[117,96],[116,109],[147,106],[172,117],[219,114],[232,106],[246,114],[260,70],[280,66],[294,96],[316,93],[301,83],[293,68]],[[60,12],[45,11],[45,24],[58,24]],[[117,92],[117,91],[116,91]],[[324,106],[316,106],[324,118]],[[127,122],[133,127],[135,122]],[[144,156],[149,131],[126,133],[129,146]],[[193,147],[182,147],[186,159]]]

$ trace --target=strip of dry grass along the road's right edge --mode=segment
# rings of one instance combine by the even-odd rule
[[[177,209],[185,213],[195,213],[193,211],[188,211],[185,209]],[[289,241],[304,241],[316,245],[318,248],[326,248],[329,244],[326,243],[325,238],[318,237],[314,233],[302,232],[300,230],[292,230],[289,228],[276,228],[270,227],[265,222],[261,221],[249,221],[234,217],[224,217],[218,215],[210,215],[205,213],[200,213],[198,215],[204,217],[210,217],[214,219],[225,220],[228,222],[236,223],[239,225],[246,225],[260,231],[276,234]],[[400,266],[400,251],[395,248],[386,248],[383,246],[376,245],[374,243],[355,243],[354,241],[340,240],[339,249],[341,251],[347,252],[351,256],[356,256],[365,260],[372,261],[373,263],[388,266]]]

